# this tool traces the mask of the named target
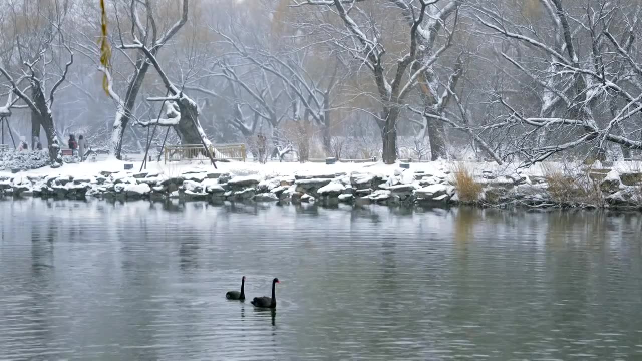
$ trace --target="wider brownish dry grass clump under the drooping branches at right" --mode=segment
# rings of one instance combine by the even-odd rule
[[[590,177],[590,167],[573,172],[565,165],[553,167],[542,164],[542,172],[548,183],[548,195],[560,206],[600,208],[607,205],[600,181]]]

